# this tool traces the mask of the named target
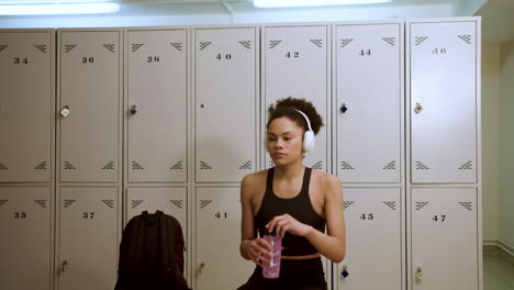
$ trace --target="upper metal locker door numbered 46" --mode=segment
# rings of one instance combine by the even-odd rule
[[[477,22],[407,29],[412,182],[477,182]]]

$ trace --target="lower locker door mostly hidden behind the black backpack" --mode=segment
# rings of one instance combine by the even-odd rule
[[[182,226],[182,234],[186,245],[188,245],[188,219],[187,219],[188,199],[186,188],[128,188],[126,212],[128,222],[132,217],[144,211],[155,213],[163,211],[177,219]],[[185,272],[187,265],[187,246],[183,253]],[[186,276],[187,277],[187,276]]]

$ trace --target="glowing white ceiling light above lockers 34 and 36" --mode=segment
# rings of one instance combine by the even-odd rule
[[[0,15],[96,14],[118,11],[120,11],[120,5],[116,3],[0,4]]]

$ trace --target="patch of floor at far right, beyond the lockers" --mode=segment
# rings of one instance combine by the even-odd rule
[[[483,250],[483,290],[514,290],[514,257],[500,249]]]

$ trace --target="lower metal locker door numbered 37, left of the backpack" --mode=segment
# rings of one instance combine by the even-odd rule
[[[118,269],[118,188],[62,187],[59,290],[112,290]]]

